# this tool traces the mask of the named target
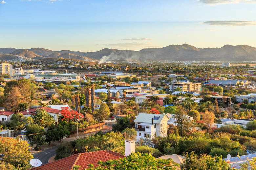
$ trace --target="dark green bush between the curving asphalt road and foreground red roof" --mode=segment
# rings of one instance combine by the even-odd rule
[[[58,148],[56,149],[57,155],[55,156],[55,160],[68,157],[70,155],[73,155],[74,149],[72,148],[72,145],[70,143],[64,143],[58,145]]]

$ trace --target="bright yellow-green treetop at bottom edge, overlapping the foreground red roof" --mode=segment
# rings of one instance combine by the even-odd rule
[[[115,170],[163,170],[172,169],[172,166],[178,166],[177,163],[173,162],[171,159],[156,159],[150,154],[131,153],[125,158],[109,160],[106,162],[99,161],[99,166],[94,168],[94,165],[89,164],[87,170],[103,170],[103,169],[115,169]]]

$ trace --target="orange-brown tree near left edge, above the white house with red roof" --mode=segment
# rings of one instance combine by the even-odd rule
[[[22,102],[22,95],[17,87],[14,87],[8,95],[6,95],[5,106],[16,113],[19,110],[19,103]]]

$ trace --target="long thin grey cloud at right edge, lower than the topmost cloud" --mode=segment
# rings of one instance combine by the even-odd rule
[[[256,21],[206,21],[203,24],[208,25],[223,25],[223,26],[250,26],[256,25]]]

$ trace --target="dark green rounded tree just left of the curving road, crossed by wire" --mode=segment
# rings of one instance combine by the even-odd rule
[[[37,124],[30,124],[26,127],[25,135],[28,135],[30,138],[31,145],[36,144],[35,149],[39,149],[38,146],[44,144],[45,138],[43,137],[43,133],[45,132],[44,127],[41,127]],[[34,134],[34,135],[31,135]]]

